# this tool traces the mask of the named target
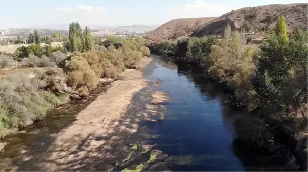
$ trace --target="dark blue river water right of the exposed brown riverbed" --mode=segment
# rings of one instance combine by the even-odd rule
[[[174,64],[156,61],[146,78],[162,80],[156,89],[166,91],[169,100],[165,120],[151,130],[158,135],[153,139],[155,149],[171,157],[168,169],[245,171],[232,151],[235,136],[221,101],[223,94],[211,85],[196,84],[192,75]]]

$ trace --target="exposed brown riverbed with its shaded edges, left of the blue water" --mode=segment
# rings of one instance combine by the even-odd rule
[[[130,143],[146,133],[142,121],[153,122],[152,117],[161,116],[163,106],[158,103],[167,100],[166,94],[152,94],[149,89],[145,94],[152,94],[152,99],[147,102],[141,96],[141,101],[132,102],[136,92],[148,88],[142,69],[150,62],[151,58],[144,58],[106,92],[98,89],[85,102],[65,104],[46,121],[6,136],[0,143],[0,171],[107,171],[115,167],[126,159]]]

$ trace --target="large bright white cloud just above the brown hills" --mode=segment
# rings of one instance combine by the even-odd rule
[[[194,4],[168,8],[168,12],[173,18],[216,17],[231,10],[232,8],[229,6],[208,4],[203,0],[196,0]]]

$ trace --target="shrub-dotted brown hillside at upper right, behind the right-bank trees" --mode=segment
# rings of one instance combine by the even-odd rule
[[[274,28],[277,18],[285,16],[289,32],[295,27],[306,28],[308,26],[308,3],[304,4],[271,4],[258,7],[246,7],[224,14],[211,22],[203,24],[196,29],[191,36],[201,37],[210,34],[222,35],[227,24],[234,29],[259,31]]]

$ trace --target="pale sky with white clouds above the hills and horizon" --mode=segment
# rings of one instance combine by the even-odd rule
[[[307,0],[0,0],[0,29],[66,24],[163,24],[175,18],[213,17],[242,7]]]

